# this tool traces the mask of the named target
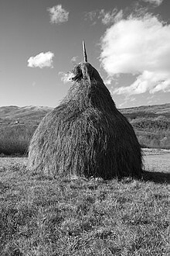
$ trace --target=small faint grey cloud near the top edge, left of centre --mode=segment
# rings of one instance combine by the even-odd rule
[[[62,5],[55,5],[52,8],[48,8],[47,11],[50,14],[50,22],[63,23],[69,19],[69,12],[62,8]]]

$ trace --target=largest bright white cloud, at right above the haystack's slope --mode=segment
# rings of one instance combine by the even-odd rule
[[[155,16],[122,19],[101,39],[100,61],[108,76],[136,74],[117,94],[170,92],[170,25]]]

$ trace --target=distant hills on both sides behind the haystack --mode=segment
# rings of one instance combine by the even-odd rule
[[[0,107],[0,154],[26,153],[41,119],[53,108]],[[170,148],[170,103],[119,109],[134,127],[142,147]]]

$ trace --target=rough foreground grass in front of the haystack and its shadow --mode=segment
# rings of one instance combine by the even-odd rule
[[[0,168],[0,254],[169,255],[170,185],[48,179]]]

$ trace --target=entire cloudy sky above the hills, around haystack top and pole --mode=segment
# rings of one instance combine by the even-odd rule
[[[169,0],[1,0],[0,106],[58,106],[82,40],[118,108],[169,103],[169,13]]]

